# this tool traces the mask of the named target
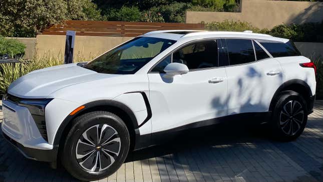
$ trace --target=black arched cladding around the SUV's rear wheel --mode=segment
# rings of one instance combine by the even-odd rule
[[[273,111],[275,107],[275,103],[278,100],[279,94],[282,91],[286,91],[286,90],[292,90],[299,93],[305,99],[307,105],[310,103],[310,97],[312,96],[312,92],[309,85],[303,80],[292,79],[284,82],[282,85],[278,87],[278,89],[276,90],[276,92],[274,93],[271,99],[269,111]]]

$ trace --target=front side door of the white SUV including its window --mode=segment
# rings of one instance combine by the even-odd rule
[[[184,45],[165,57],[148,74],[152,132],[181,130],[210,124],[226,114],[225,68],[218,68],[216,40]],[[189,72],[172,79],[163,77],[171,62],[187,65]]]

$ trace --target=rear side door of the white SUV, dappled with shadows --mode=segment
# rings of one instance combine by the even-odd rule
[[[279,62],[249,39],[225,39],[229,57],[228,114],[266,112],[283,83]]]

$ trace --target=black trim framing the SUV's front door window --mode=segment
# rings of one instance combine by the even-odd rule
[[[173,62],[173,53],[175,53],[176,51],[182,49],[183,47],[189,45],[189,44],[193,44],[193,43],[196,43],[196,42],[202,42],[202,41],[217,41],[220,40],[221,38],[204,38],[204,39],[198,39],[198,40],[193,40],[193,41],[189,41],[189,42],[186,42],[182,45],[180,45],[179,47],[177,47],[176,49],[172,50],[170,53],[168,53],[166,56],[164,56],[163,58],[161,58],[156,64],[154,64],[148,71],[147,74],[149,73],[164,73],[164,72],[152,72],[151,70],[153,70],[160,62],[164,61],[164,59],[166,57],[168,57],[169,55],[171,55],[171,63]],[[217,64],[219,65],[219,49],[217,50],[218,51],[218,59],[217,59]],[[202,71],[202,70],[210,70],[210,69],[216,69],[216,68],[219,68],[218,66],[213,66],[213,67],[208,67],[208,68],[196,68],[196,69],[190,69],[188,70],[189,72],[194,72],[194,71]]]

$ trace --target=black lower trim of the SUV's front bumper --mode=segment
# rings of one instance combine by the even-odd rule
[[[58,146],[53,146],[53,149],[50,150],[28,148],[24,147],[22,144],[10,138],[4,132],[2,132],[2,134],[4,138],[9,143],[11,143],[18,151],[20,151],[26,158],[45,162],[56,162],[57,160]]]

